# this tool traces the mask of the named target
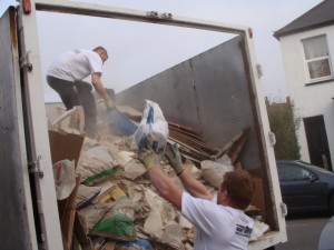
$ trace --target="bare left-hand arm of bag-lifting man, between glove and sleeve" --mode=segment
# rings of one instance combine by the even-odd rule
[[[158,193],[180,210],[183,190],[159,167],[150,168],[147,172]]]

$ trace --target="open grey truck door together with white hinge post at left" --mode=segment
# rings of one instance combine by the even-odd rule
[[[62,249],[35,12],[9,8],[0,32],[0,246]]]

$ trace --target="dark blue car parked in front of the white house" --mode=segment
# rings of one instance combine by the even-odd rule
[[[334,173],[317,166],[279,160],[282,199],[288,212],[331,211],[334,214]]]

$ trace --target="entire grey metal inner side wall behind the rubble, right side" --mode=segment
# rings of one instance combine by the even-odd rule
[[[249,124],[240,160],[246,169],[258,168],[258,126],[244,47],[243,37],[236,37],[118,93],[117,103],[143,110],[144,100],[153,100],[168,121],[202,131],[217,148]]]

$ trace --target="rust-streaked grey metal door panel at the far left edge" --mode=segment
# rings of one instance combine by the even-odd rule
[[[26,202],[20,89],[16,81],[18,42],[14,10],[0,18],[0,249],[31,249]],[[18,61],[18,60],[17,60]],[[28,174],[27,174],[28,176]]]

